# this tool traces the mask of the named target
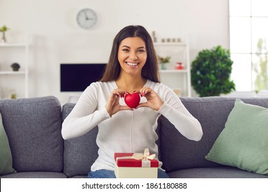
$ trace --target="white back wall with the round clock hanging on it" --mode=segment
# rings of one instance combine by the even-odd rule
[[[85,31],[76,25],[81,8],[98,14]],[[30,34],[30,97],[54,95],[62,103],[60,63],[107,62],[115,34],[126,25],[144,25],[159,37],[188,33],[190,60],[201,49],[229,48],[228,0],[0,0],[0,25],[10,42]]]

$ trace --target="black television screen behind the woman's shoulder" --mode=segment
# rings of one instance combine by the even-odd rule
[[[60,64],[60,91],[85,91],[102,77],[106,64]]]

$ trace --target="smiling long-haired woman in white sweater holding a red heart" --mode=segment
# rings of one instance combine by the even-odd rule
[[[124,95],[137,91],[140,104],[132,109]],[[98,158],[89,178],[115,178],[115,152],[158,155],[157,119],[164,115],[183,136],[199,141],[203,135],[197,119],[172,89],[159,83],[157,56],[150,34],[142,26],[124,27],[113,40],[111,56],[100,82],[88,86],[63,122],[63,138],[82,136],[98,125]],[[159,162],[158,178],[168,178]]]

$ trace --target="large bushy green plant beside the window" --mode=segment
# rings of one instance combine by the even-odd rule
[[[191,82],[200,97],[219,96],[235,90],[230,80],[233,61],[230,51],[220,45],[198,53],[191,66]]]

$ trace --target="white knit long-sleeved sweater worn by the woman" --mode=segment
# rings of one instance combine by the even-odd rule
[[[158,111],[137,108],[122,110],[110,117],[105,105],[111,92],[118,87],[115,81],[95,82],[85,89],[63,122],[63,139],[82,136],[98,125],[96,143],[99,156],[91,171],[113,171],[115,152],[142,153],[145,148],[149,148],[150,153],[157,156],[158,147],[155,141],[158,137],[155,130],[160,115],[164,115],[186,138],[194,141],[201,139],[203,132],[199,121],[190,115],[172,89],[150,80],[144,86],[152,88],[163,99],[164,104]],[[142,97],[141,102],[146,102],[146,98]],[[126,105],[123,98],[120,99],[120,104]],[[161,165],[160,162],[159,167]]]

